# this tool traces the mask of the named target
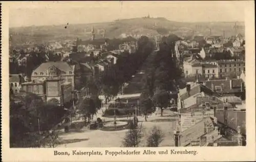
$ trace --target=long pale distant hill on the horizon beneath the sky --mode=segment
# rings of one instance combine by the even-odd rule
[[[32,26],[10,28],[13,44],[19,42],[48,42],[56,40],[74,40],[79,37],[88,40],[91,36],[91,28],[94,27],[96,39],[121,38],[126,36],[156,36],[168,33],[177,36],[192,35],[234,35],[235,22],[177,22],[166,18],[131,18],[120,19],[113,22],[102,22],[95,24],[71,24],[65,29],[65,25],[60,26]],[[237,33],[244,35],[244,22],[237,22]]]

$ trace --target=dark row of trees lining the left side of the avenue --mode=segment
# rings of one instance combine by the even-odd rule
[[[102,73],[100,76],[101,89],[106,102],[118,94],[124,83],[128,83],[132,79],[132,76],[153,50],[153,42],[148,37],[142,36],[138,39],[138,49],[135,53],[122,53],[116,64]]]

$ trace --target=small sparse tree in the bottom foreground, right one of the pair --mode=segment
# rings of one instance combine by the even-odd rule
[[[151,130],[150,136],[147,137],[147,147],[158,147],[163,141],[164,134],[162,130],[154,126]]]

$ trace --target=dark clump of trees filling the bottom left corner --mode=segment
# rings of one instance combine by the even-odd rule
[[[10,100],[10,147],[42,147],[46,133],[67,113],[62,107],[45,104],[35,94],[19,94]],[[19,100],[19,103],[13,102]]]

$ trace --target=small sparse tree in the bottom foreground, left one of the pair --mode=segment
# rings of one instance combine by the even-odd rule
[[[141,142],[142,138],[142,124],[140,125],[139,128],[135,128],[132,124],[129,129],[125,133],[124,139],[123,139],[123,146],[124,147],[139,147],[139,144]]]

